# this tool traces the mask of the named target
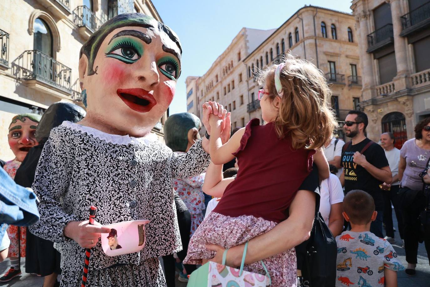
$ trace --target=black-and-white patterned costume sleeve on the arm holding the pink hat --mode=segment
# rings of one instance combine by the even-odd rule
[[[40,155],[33,182],[33,191],[40,200],[40,221],[30,226],[30,231],[53,242],[71,240],[64,236],[64,227],[70,221],[79,221],[77,216],[67,214],[61,208],[71,176],[71,170],[68,169],[68,145],[70,143],[61,132],[56,129],[51,131]]]

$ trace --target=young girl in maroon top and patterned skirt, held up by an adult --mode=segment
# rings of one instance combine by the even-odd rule
[[[184,260],[187,264],[202,264],[202,259],[215,256],[206,244],[237,246],[285,220],[299,186],[310,173],[313,149],[321,148],[335,128],[330,90],[310,62],[287,55],[279,65],[263,71],[258,82],[265,82],[258,99],[267,124],[260,126],[258,119],[251,120],[228,141],[221,139],[223,121],[215,117],[221,108],[214,102],[205,104],[204,109],[213,111],[209,118],[212,164],[206,175],[212,176],[215,165],[233,157],[237,157],[239,172],[236,179],[225,179],[214,188],[219,192],[211,195],[222,195],[221,201],[191,238]],[[313,159],[320,177],[328,178],[329,167],[322,152]],[[220,170],[217,174],[222,179]],[[272,286],[296,286],[294,248],[263,261]],[[245,270],[265,274],[260,262],[246,265]]]

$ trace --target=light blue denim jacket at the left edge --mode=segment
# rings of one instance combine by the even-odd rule
[[[17,185],[0,168],[0,238],[3,238],[8,224],[28,226],[40,219],[36,200],[31,189]]]

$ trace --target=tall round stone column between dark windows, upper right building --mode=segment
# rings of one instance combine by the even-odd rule
[[[402,5],[400,0],[391,0],[391,18],[393,20],[394,49],[396,51],[397,76],[408,74],[406,39],[399,34],[402,32]]]

